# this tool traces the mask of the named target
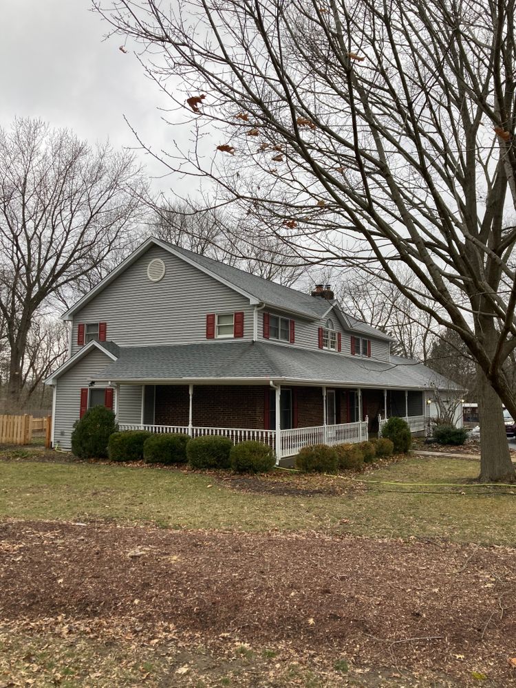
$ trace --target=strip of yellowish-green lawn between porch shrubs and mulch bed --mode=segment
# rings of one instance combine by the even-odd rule
[[[349,493],[309,496],[241,492],[213,475],[183,471],[4,461],[0,462],[0,517],[115,519],[166,528],[248,532],[326,530],[515,546],[516,491],[438,485],[467,484],[477,471],[471,460],[408,458],[358,476],[390,484],[367,482],[365,490],[356,491],[349,478],[343,478],[349,481]]]

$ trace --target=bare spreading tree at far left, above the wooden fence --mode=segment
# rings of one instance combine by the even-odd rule
[[[144,191],[133,156],[92,149],[40,120],[0,129],[0,314],[8,407],[22,399],[34,316],[72,283],[100,277],[124,250]]]

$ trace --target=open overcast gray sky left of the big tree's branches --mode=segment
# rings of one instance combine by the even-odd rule
[[[126,115],[153,149],[166,148],[171,127],[156,109],[166,107],[165,97],[136,56],[118,50],[120,37],[103,41],[108,25],[89,8],[89,0],[3,0],[0,125],[16,115],[39,117],[90,142],[133,147]],[[149,173],[164,172],[149,156],[142,161]],[[160,190],[178,184],[153,182]]]

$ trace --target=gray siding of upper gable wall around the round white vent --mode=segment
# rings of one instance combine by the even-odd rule
[[[165,264],[159,282],[147,277],[153,258]],[[152,246],[75,314],[72,354],[80,348],[78,323],[107,323],[107,339],[120,346],[190,344],[206,341],[206,314],[235,311],[244,312],[243,340],[252,340],[254,307],[246,297]]]

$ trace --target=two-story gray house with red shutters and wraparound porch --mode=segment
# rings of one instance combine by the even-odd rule
[[[449,380],[391,356],[391,339],[312,294],[148,239],[80,299],[54,387],[52,443],[94,405],[120,429],[257,439],[278,460],[359,442],[389,416],[422,431]],[[462,416],[461,416],[462,417]]]

